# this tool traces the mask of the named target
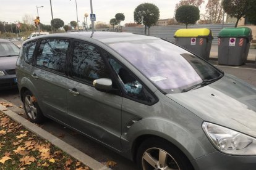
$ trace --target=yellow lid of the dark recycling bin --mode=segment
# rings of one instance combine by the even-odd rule
[[[198,37],[198,36],[212,36],[211,30],[208,28],[179,29],[174,34],[174,37]]]

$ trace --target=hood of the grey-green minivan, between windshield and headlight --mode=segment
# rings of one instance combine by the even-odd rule
[[[256,137],[256,88],[235,76],[224,75],[208,86],[167,96],[204,121]]]

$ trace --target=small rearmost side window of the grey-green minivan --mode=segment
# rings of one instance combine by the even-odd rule
[[[36,47],[36,41],[27,42],[23,45],[23,58],[25,63],[28,63],[29,65],[32,65],[32,59],[33,59],[33,52]]]

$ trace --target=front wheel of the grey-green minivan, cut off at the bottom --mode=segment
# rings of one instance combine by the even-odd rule
[[[137,152],[139,169],[194,169],[176,146],[164,139],[150,138],[142,142]]]

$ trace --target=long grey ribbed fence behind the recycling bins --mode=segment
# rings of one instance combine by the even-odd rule
[[[209,28],[213,33],[213,44],[218,44],[218,34],[220,30],[224,28],[234,27],[234,24],[203,24],[203,25],[189,25],[188,28]],[[174,41],[174,33],[182,28],[186,28],[185,25],[168,25],[168,26],[151,26],[150,36],[156,36],[158,38],[164,38],[168,41]],[[144,27],[124,27],[123,32],[144,34]],[[147,29],[148,34],[148,29]]]

